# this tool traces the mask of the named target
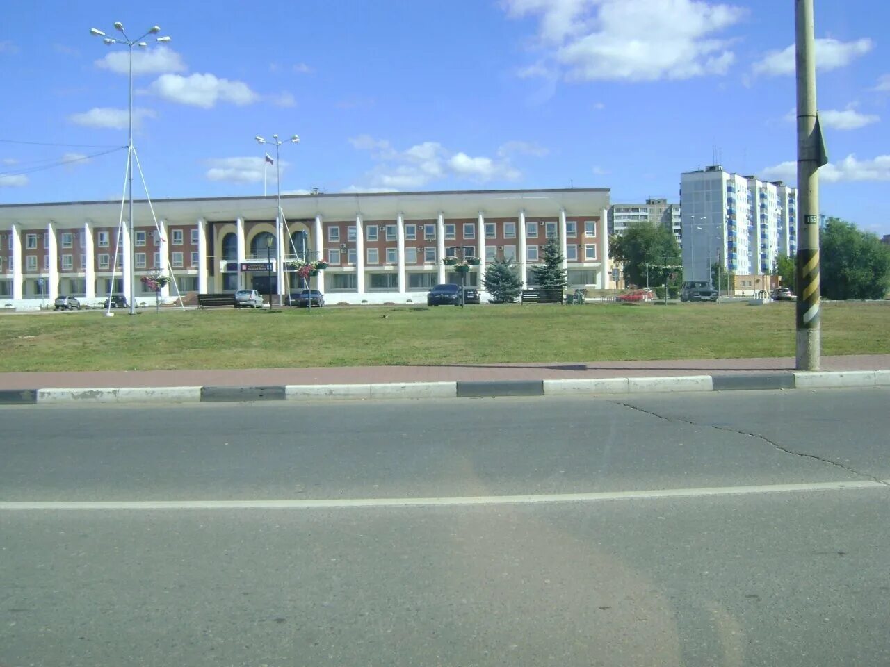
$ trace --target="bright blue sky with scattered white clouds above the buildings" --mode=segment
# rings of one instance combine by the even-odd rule
[[[134,57],[154,198],[262,194],[253,138],[271,133],[301,138],[281,149],[284,192],[574,185],[676,201],[680,173],[715,153],[793,182],[793,5],[7,0],[0,202],[121,197],[125,151],[97,154],[126,143],[125,49],[89,34],[116,36],[117,20],[172,37]],[[815,11],[822,212],[887,234],[890,6]]]

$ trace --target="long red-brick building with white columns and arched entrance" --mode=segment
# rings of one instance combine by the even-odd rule
[[[179,293],[302,288],[288,262],[328,262],[312,287],[329,303],[417,302],[460,283],[442,259],[478,257],[465,278],[481,288],[486,264],[513,259],[531,286],[548,237],[559,240],[571,287],[609,276],[608,189],[530,189],[281,197],[160,199],[134,204],[134,237],[120,202],[0,205],[0,307],[39,308],[59,294],[86,303],[109,293],[153,301],[143,276],[172,275]],[[277,247],[283,249],[276,260]],[[130,262],[133,262],[131,268]],[[263,268],[258,268],[258,267]],[[165,299],[175,297],[164,288]],[[484,296],[484,293],[483,293]]]

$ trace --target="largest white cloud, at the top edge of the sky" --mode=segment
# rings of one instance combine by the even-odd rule
[[[508,14],[540,15],[547,59],[570,80],[654,81],[725,74],[735,54],[716,33],[746,10],[704,0],[504,0]],[[546,76],[538,62],[520,76]]]

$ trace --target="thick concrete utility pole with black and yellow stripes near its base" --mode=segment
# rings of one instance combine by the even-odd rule
[[[813,0],[795,0],[797,61],[797,370],[818,371],[819,175],[828,164],[816,108]]]

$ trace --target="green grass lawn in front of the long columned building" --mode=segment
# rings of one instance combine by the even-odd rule
[[[7,315],[0,316],[0,371],[793,357],[794,309],[541,304]],[[890,304],[823,304],[822,353],[888,354],[888,329]]]

